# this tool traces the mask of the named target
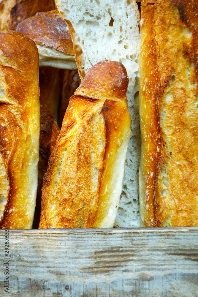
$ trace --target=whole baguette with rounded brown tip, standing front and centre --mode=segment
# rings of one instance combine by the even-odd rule
[[[113,227],[130,115],[119,62],[93,66],[70,98],[42,188],[39,228]]]

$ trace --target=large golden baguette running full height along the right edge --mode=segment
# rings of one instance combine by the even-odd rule
[[[141,17],[141,224],[198,226],[197,1],[144,0]]]

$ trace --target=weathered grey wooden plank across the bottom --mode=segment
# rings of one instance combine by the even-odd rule
[[[10,230],[10,293],[0,247],[0,296],[198,296],[198,228]]]

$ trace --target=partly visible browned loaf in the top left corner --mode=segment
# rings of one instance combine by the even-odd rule
[[[54,0],[2,0],[0,1],[0,31],[16,30],[17,25],[37,12],[54,10]]]

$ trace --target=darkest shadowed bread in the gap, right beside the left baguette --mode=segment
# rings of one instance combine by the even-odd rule
[[[58,120],[59,69],[54,67],[39,68],[40,100]]]

